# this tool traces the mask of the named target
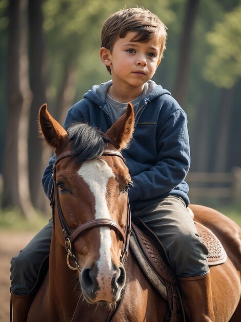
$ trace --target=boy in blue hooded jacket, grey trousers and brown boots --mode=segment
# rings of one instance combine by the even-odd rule
[[[168,91],[150,80],[162,59],[166,37],[165,25],[148,10],[131,8],[111,15],[103,26],[100,57],[112,80],[93,86],[72,106],[65,127],[84,121],[106,132],[124,113],[127,102],[132,102],[135,131],[130,148],[123,151],[134,183],[129,193],[132,220],[142,218],[165,245],[189,321],[214,321],[208,250],[187,211],[184,179],[190,155],[186,114]],[[54,158],[43,176],[48,196]],[[49,252],[51,225],[50,221],[12,259],[14,322],[26,320],[30,291]]]

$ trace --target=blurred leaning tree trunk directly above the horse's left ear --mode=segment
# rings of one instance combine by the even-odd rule
[[[67,55],[64,64],[62,83],[59,86],[56,103],[56,119],[61,124],[64,123],[67,111],[73,104],[76,93],[76,60],[76,55],[73,57]]]

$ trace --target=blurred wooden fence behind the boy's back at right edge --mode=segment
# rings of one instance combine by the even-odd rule
[[[241,202],[241,168],[234,167],[231,172],[189,172],[191,202],[200,199],[224,199],[231,203]]]

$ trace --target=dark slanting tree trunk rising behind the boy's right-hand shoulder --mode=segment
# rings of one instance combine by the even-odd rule
[[[199,0],[187,1],[183,31],[180,37],[180,50],[178,55],[177,74],[173,94],[181,106],[184,104],[187,93],[192,47],[192,32],[196,19],[198,3]]]

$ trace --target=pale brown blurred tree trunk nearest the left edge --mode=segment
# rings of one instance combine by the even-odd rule
[[[31,91],[28,82],[27,0],[9,0],[8,120],[4,160],[3,207],[17,206],[26,218],[34,210],[28,180],[28,115]]]

